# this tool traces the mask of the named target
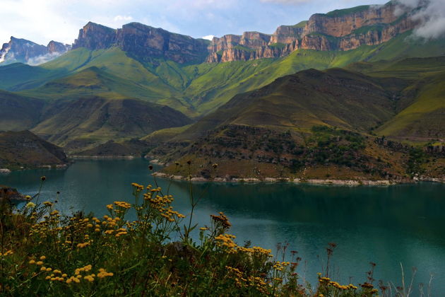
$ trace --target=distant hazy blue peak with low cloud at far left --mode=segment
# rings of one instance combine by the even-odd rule
[[[0,64],[14,62],[32,65],[42,64],[70,49],[71,46],[53,40],[45,47],[45,45],[37,45],[35,42],[11,36],[11,40],[1,47]]]

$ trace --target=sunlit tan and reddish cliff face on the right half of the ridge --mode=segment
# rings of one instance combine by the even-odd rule
[[[213,38],[207,62],[230,62],[283,57],[304,50],[353,50],[362,45],[379,45],[415,28],[408,15],[397,16],[393,2],[381,6],[314,14],[306,23],[282,25],[273,35],[243,33]]]

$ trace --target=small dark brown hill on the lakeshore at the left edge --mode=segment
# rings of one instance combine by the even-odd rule
[[[0,132],[1,168],[35,168],[66,163],[67,158],[61,148],[29,131]]]

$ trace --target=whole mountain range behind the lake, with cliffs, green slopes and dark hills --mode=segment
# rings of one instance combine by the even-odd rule
[[[73,154],[151,150],[165,161],[200,159],[201,168],[232,160],[245,163],[244,175],[268,164],[275,169],[262,170],[270,175],[349,164],[355,173],[401,176],[408,169],[397,162],[410,160],[405,145],[443,146],[445,39],[415,37],[421,21],[396,7],[358,6],[271,35],[211,41],[140,23],[115,30],[91,22],[72,46],[11,37],[0,52],[7,62],[0,129],[29,129]],[[10,63],[64,51],[38,66]],[[266,136],[281,148],[269,147]],[[347,147],[350,158],[316,161],[327,154],[320,139],[334,151]],[[391,169],[377,161],[388,147],[400,155],[386,158]],[[441,148],[426,151],[441,156]],[[432,176],[442,161],[436,158]]]

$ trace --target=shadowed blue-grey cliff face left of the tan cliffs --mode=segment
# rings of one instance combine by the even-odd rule
[[[88,23],[80,30],[73,48],[100,50],[117,46],[141,59],[164,57],[186,63],[202,62],[208,54],[207,45],[206,40],[170,33],[141,23],[129,23],[117,30]]]

